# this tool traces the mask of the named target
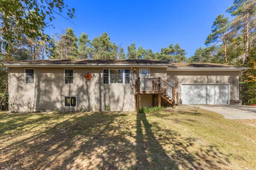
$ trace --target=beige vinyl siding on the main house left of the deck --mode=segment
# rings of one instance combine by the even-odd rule
[[[10,111],[135,110],[135,80],[130,84],[103,84],[102,69],[74,68],[74,84],[64,84],[64,68],[34,68],[35,84],[24,83],[24,68],[10,68]],[[70,68],[71,69],[71,68]],[[92,73],[92,79],[84,75]],[[64,96],[76,96],[76,107],[64,107]]]

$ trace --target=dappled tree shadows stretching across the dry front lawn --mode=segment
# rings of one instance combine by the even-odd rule
[[[187,153],[197,139],[160,127],[161,122],[150,123],[147,114],[136,114],[136,120],[135,115],[129,114],[134,113],[56,113],[44,115],[38,121],[13,116],[12,129],[30,123],[35,127],[53,119],[64,121],[24,139],[20,137],[4,147],[0,145],[0,168],[178,169],[181,164],[203,169],[225,164],[222,159],[228,156],[216,147],[202,147],[195,158]],[[8,137],[1,133],[0,141]],[[208,157],[216,160],[205,160]]]

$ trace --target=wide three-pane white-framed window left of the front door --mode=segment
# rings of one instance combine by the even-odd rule
[[[103,69],[103,84],[130,84],[130,69]]]

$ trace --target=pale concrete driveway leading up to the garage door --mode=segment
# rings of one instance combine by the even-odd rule
[[[256,119],[256,106],[240,105],[184,105],[182,107],[199,107],[224,115],[226,119]]]

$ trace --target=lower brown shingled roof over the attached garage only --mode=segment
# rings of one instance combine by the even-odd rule
[[[172,63],[168,68],[240,68],[240,66],[232,66],[216,63]]]

